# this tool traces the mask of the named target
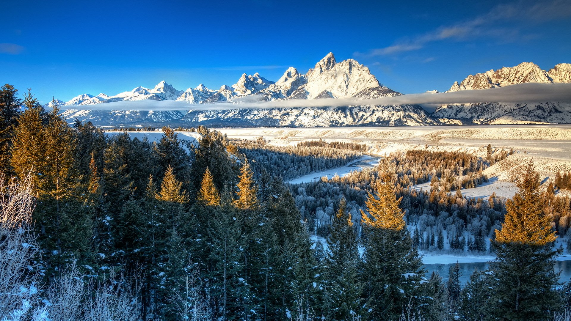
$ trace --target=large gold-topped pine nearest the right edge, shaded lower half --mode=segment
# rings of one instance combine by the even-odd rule
[[[505,221],[493,243],[497,258],[490,266],[495,280],[492,298],[498,317],[538,320],[548,318],[560,303],[558,274],[553,271],[560,250],[550,247],[556,236],[552,218],[543,211],[545,199],[531,160],[517,187],[506,202]]]

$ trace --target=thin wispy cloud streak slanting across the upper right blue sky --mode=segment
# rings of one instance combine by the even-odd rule
[[[571,1],[551,0],[551,1],[518,1],[514,3],[501,4],[494,7],[488,13],[468,21],[459,22],[454,25],[441,26],[435,30],[422,35],[416,35],[412,39],[401,39],[393,45],[369,50],[367,53],[355,53],[355,55],[375,57],[381,55],[391,55],[404,51],[422,49],[427,43],[443,41],[445,39],[472,39],[474,37],[494,37],[511,39],[513,41],[518,36],[518,30],[506,29],[497,26],[498,23],[506,21],[525,22],[545,22],[554,21],[571,16]],[[525,36],[522,36],[525,38]]]

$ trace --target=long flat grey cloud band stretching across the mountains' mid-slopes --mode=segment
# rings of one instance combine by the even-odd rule
[[[522,83],[518,85],[485,89],[462,90],[452,93],[407,94],[396,97],[373,99],[326,98],[288,99],[281,101],[260,101],[253,97],[234,99],[231,102],[209,104],[188,104],[178,101],[121,101],[88,106],[64,106],[68,110],[231,110],[272,109],[300,107],[344,107],[365,105],[444,105],[455,103],[538,103],[571,102],[571,83]],[[262,96],[259,96],[262,99]]]

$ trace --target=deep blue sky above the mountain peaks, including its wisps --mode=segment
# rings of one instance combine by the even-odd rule
[[[329,51],[401,93],[468,74],[571,63],[571,1],[10,1],[0,83],[42,102],[165,80],[218,89],[242,73],[305,73]]]

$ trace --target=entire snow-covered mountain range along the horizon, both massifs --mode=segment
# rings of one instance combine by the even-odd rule
[[[524,82],[571,82],[571,64],[561,63],[549,71],[533,63],[469,75],[452,85],[449,91],[489,89]],[[435,93],[435,91],[431,91]],[[110,102],[179,101],[190,104],[232,102],[251,97],[255,101],[321,98],[381,98],[401,95],[382,85],[366,66],[354,59],[335,61],[327,54],[307,73],[289,67],[278,81],[260,74],[242,74],[232,86],[218,90],[203,84],[185,91],[162,81],[153,89],[136,87],[131,91],[107,96],[82,94],[68,102],[56,101],[63,115],[74,121],[91,121],[99,126],[423,126],[443,123],[494,122],[571,122],[569,103],[545,102],[539,105],[502,105],[498,103],[443,105],[429,114],[419,105],[297,107],[272,109],[208,110],[117,110],[106,109]],[[90,108],[92,105],[94,108]],[[184,106],[184,105],[183,105]],[[205,105],[206,107],[207,105]],[[516,112],[517,111],[517,112]]]

